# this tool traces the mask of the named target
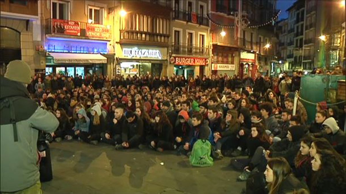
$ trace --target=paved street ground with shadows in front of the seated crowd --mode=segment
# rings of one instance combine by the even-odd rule
[[[198,168],[172,152],[77,141],[53,142],[51,156],[54,177],[42,184],[44,194],[238,194],[245,187],[236,182],[229,158]]]

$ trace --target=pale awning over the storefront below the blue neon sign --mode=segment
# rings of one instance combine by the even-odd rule
[[[49,53],[54,63],[107,63],[107,58],[101,54],[82,53]]]

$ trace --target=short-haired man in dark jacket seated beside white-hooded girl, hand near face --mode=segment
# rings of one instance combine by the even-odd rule
[[[109,123],[106,132],[101,133],[101,140],[110,145],[118,145],[121,141],[122,129],[125,128],[124,107],[119,105],[114,111],[114,119]]]

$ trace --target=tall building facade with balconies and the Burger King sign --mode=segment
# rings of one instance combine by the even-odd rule
[[[209,74],[210,22],[208,0],[171,1],[172,22],[168,75]]]

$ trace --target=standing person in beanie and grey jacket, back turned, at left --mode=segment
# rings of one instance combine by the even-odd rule
[[[15,60],[0,80],[1,193],[42,193],[37,154],[39,130],[54,132],[59,121],[30,99],[30,66]]]

